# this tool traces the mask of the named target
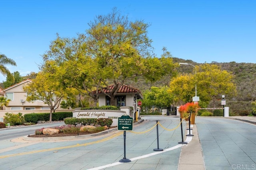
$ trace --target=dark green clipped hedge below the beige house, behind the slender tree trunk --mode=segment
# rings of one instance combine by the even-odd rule
[[[52,113],[52,121],[62,121],[66,117],[72,117],[72,112],[56,112]],[[30,113],[24,115],[26,122],[37,123],[37,121],[49,121],[50,113]]]

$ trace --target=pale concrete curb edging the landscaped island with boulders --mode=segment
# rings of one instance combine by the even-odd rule
[[[144,119],[140,119],[138,122],[135,122],[134,125],[138,125],[138,124],[142,123],[143,121],[144,121]],[[89,138],[89,137],[105,135],[105,134],[113,132],[113,131],[117,131],[117,127],[113,128],[113,129],[108,129],[106,131],[102,131],[99,133],[90,134],[90,135],[78,135],[78,136],[68,136],[68,137],[28,137],[28,136],[24,136],[23,140],[24,141],[59,141],[59,140],[85,139],[85,138]]]

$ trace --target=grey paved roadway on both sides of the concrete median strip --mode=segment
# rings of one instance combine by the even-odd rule
[[[178,145],[181,141],[180,127],[175,128],[180,119],[171,116],[143,116],[142,119],[143,123],[126,134],[126,158],[131,162],[119,162],[124,158],[122,131],[66,141],[10,141],[13,137],[32,134],[41,128],[34,126],[0,131],[0,169],[177,169],[182,147]],[[167,128],[159,127],[159,147],[164,149],[160,152],[154,151],[157,148],[154,127],[157,120]],[[196,127],[206,170],[256,169],[255,125],[223,117],[196,117]]]

